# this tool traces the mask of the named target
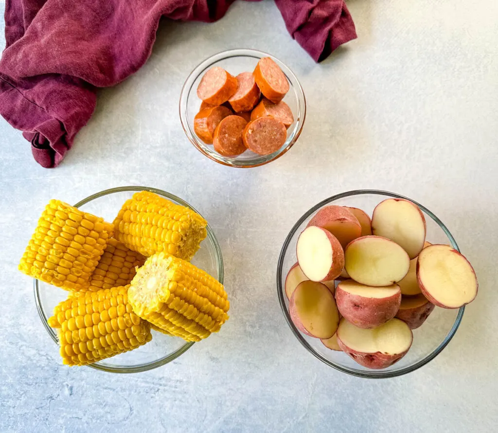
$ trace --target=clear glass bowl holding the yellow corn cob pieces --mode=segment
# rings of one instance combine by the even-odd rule
[[[197,212],[187,202],[172,194],[155,188],[138,186],[111,188],[101,191],[83,199],[74,206],[82,211],[103,216],[106,221],[113,221],[123,203],[130,199],[133,193],[144,190],[151,191]],[[202,241],[199,251],[192,259],[192,263],[204,269],[223,284],[223,257],[220,245],[209,225],[207,226],[207,237]],[[52,340],[58,344],[57,334],[47,324],[47,319],[52,316],[54,307],[59,302],[67,299],[68,292],[36,279],[33,281],[33,289],[36,308],[38,309],[41,322],[52,337]],[[182,338],[171,337],[152,330],[152,341],[147,344],[130,352],[90,364],[89,367],[112,373],[136,373],[152,370],[171,362],[182,353],[185,353],[193,344],[193,342],[187,342]]]

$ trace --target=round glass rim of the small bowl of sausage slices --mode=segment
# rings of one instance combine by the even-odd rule
[[[229,158],[229,157],[224,157],[224,156],[219,156],[216,157],[209,152],[206,152],[206,150],[199,144],[197,141],[195,132],[192,131],[190,128],[190,125],[188,123],[188,115],[187,115],[187,101],[189,98],[189,95],[192,91],[192,87],[194,85],[195,80],[197,77],[199,77],[206,69],[208,69],[210,66],[212,66],[214,63],[217,63],[222,60],[230,59],[232,57],[254,57],[257,59],[260,59],[261,57],[270,57],[272,60],[274,60],[277,65],[282,69],[282,72],[286,75],[287,79],[289,80],[290,77],[290,82],[292,84],[292,87],[296,89],[297,95],[297,101],[298,101],[298,118],[300,119],[300,122],[296,125],[296,128],[292,133],[294,134],[291,140],[289,141],[289,144],[285,146],[283,149],[279,149],[277,152],[273,152],[270,155],[273,155],[271,158],[265,159],[267,156],[270,155],[259,155],[257,159],[261,159],[260,162],[255,162],[251,163],[250,160],[247,162],[244,161],[237,161],[235,158]],[[301,101],[302,99],[302,101]],[[302,111],[302,115],[301,115]],[[180,122],[182,124],[182,128],[185,132],[185,135],[189,139],[189,141],[194,145],[194,147],[201,152],[204,156],[207,156],[209,159],[212,161],[215,161],[219,164],[225,165],[227,167],[234,167],[234,168],[253,168],[253,167],[259,167],[261,165],[268,164],[269,162],[275,161],[276,159],[280,158],[283,154],[287,153],[287,151],[294,145],[294,143],[297,141],[299,138],[299,135],[301,135],[304,121],[306,119],[306,97],[304,95],[303,88],[301,86],[301,83],[299,83],[299,80],[295,76],[295,74],[292,72],[292,70],[285,65],[281,60],[276,58],[275,56],[266,53],[264,51],[259,51],[259,50],[254,50],[251,48],[235,48],[231,50],[225,50],[225,51],[220,51],[216,54],[213,54],[212,56],[208,57],[206,60],[203,60],[201,63],[199,63],[193,70],[192,72],[188,75],[187,79],[185,80],[185,83],[183,84],[181,93],[180,93],[180,102],[179,102],[179,114],[180,114]]]

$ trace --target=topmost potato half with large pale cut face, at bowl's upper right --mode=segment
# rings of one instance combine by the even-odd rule
[[[417,205],[404,199],[380,202],[372,214],[372,233],[386,237],[408,253],[418,256],[425,242],[425,217]]]

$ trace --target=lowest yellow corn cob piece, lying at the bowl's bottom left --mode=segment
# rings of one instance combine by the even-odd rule
[[[82,293],[55,307],[48,325],[59,328],[64,364],[92,364],[152,339],[150,324],[135,315],[128,303],[128,288]]]

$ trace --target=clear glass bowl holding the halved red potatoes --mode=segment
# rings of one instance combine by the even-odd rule
[[[336,368],[344,373],[352,374],[359,377],[368,378],[387,378],[401,376],[420,368],[434,359],[449,343],[458,329],[462,320],[465,307],[455,310],[447,310],[436,307],[425,323],[418,329],[413,329],[413,343],[408,353],[398,362],[382,370],[371,370],[357,364],[346,353],[328,349],[320,339],[313,338],[300,332],[292,323],[289,315],[289,302],[285,295],[285,277],[291,266],[296,260],[296,242],[301,231],[311,217],[326,205],[339,205],[354,208],[360,208],[372,216],[373,208],[382,200],[388,198],[400,198],[410,200],[407,197],[386,191],[376,190],[358,190],[348,191],[330,197],[317,205],[313,206],[295,223],[292,230],[287,235],[285,242],[280,251],[277,266],[277,294],[282,308],[283,315],[292,332],[299,342],[306,349],[331,367]],[[451,244],[453,248],[458,249],[458,245],[441,220],[431,211],[422,205],[415,203],[424,213],[427,223],[427,240],[431,243]]]

